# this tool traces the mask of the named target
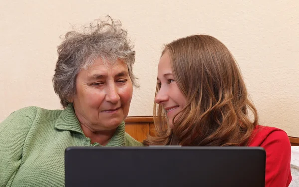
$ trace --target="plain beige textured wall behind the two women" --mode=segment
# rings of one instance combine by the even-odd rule
[[[152,115],[162,45],[209,34],[238,61],[260,123],[299,136],[298,10],[298,0],[1,0],[0,121],[26,106],[61,108],[52,87],[59,36],[110,15],[136,46],[141,87],[129,115]]]

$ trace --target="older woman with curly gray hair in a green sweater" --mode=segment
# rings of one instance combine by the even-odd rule
[[[65,35],[53,78],[65,109],[27,107],[0,123],[0,187],[63,187],[70,146],[141,146],[124,124],[136,86],[132,48],[111,18]]]

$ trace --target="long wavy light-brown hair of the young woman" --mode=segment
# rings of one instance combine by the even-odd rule
[[[155,136],[148,136],[144,144],[247,145],[258,114],[227,47],[212,36],[194,35],[167,44],[164,53],[170,56],[175,81],[187,103],[174,117],[173,129],[167,127],[163,107],[155,103]]]

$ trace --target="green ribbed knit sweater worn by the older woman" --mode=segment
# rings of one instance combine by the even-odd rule
[[[64,187],[64,151],[70,146],[101,146],[84,135],[72,104],[13,112],[0,123],[0,187]],[[142,144],[122,122],[106,146]]]

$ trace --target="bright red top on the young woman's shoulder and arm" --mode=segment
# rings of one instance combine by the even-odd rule
[[[278,128],[257,125],[249,146],[266,150],[265,187],[288,187],[292,180],[288,135]]]

